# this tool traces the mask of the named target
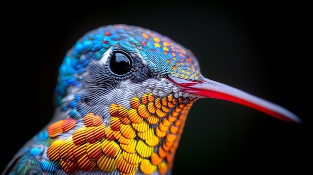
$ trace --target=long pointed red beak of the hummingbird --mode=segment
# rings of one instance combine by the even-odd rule
[[[288,122],[302,122],[295,114],[279,105],[207,78],[203,78],[202,82],[173,76],[169,76],[169,79],[181,88],[181,92],[238,103]]]

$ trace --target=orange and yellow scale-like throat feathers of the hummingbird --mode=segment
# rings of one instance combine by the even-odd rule
[[[66,118],[47,128],[52,143],[47,156],[56,169],[68,174],[117,171],[122,175],[165,174],[173,166],[185,120],[195,99],[154,97],[152,93],[133,97],[130,108],[111,104],[109,124],[102,116],[86,113],[83,125]],[[57,136],[73,129],[67,139]]]

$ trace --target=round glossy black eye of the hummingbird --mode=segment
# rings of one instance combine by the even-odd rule
[[[131,68],[129,56],[126,53],[113,53],[110,58],[110,68],[113,73],[118,75],[127,73]]]

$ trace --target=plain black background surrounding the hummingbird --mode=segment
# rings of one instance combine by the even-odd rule
[[[282,122],[238,104],[200,99],[189,112],[173,175],[311,172],[308,4],[76,1],[18,6],[8,7],[2,21],[1,170],[52,117],[65,52],[89,30],[125,23],[169,36],[194,52],[205,77],[279,104],[303,120]]]

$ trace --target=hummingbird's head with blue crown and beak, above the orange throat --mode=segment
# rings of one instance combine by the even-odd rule
[[[194,54],[169,37],[129,25],[109,25],[86,33],[59,68],[58,106],[130,107],[133,97],[216,98],[239,103],[286,121],[300,120],[283,108],[241,90],[203,77]],[[75,106],[76,107],[76,106]]]

